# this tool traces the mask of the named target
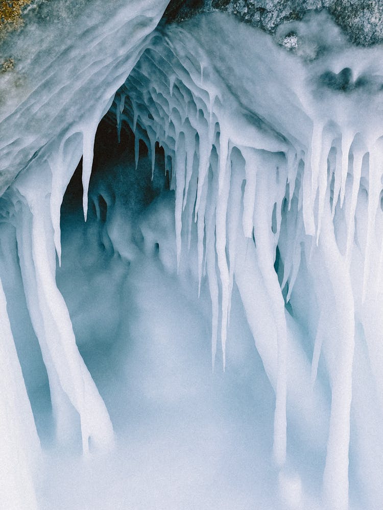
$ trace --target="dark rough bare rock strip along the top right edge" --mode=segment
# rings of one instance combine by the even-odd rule
[[[285,21],[302,19],[307,11],[327,10],[349,39],[361,45],[383,41],[381,0],[173,0],[165,11],[168,22],[201,11],[222,10],[246,23],[274,33]]]

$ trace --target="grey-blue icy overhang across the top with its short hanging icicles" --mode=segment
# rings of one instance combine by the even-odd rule
[[[49,166],[60,256],[59,211],[66,186],[83,157],[86,216],[95,132],[128,79],[124,98],[143,111],[149,108],[141,127],[153,146],[162,144],[160,132],[171,120],[179,134],[186,119],[191,122],[195,116],[199,123],[202,112],[206,125],[197,132],[210,148],[220,134],[242,154],[246,147],[284,154],[290,197],[302,160],[307,167],[300,198],[305,228],[319,236],[321,158],[334,147],[334,193],[343,203],[351,145],[364,154],[377,138],[383,83],[380,49],[350,48],[323,14],[279,28],[277,39],[292,30],[297,34],[298,47],[289,52],[270,35],[222,13],[158,26],[164,8],[151,2],[136,2],[129,9],[124,2],[113,9],[94,3],[66,23],[62,34],[53,31],[54,25],[28,24],[14,39],[20,61],[1,76],[3,90],[10,95],[4,92],[0,104],[0,191],[22,170]],[[157,105],[161,83],[172,98],[174,90],[183,91],[175,95],[171,108],[172,101],[165,99],[167,112],[161,101]],[[117,96],[123,110],[121,93]],[[154,118],[152,104],[165,114]],[[138,110],[131,112],[134,126]],[[173,152],[176,141],[173,137]]]

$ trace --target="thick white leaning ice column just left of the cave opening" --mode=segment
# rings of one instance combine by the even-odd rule
[[[28,204],[17,214],[17,246],[27,305],[49,378],[58,432],[65,438],[68,436],[76,423],[72,412],[76,409],[86,452],[89,437],[100,447],[111,444],[113,429],[105,404],[76,346],[69,313],[56,286],[48,171],[46,165],[36,160],[29,172],[15,183],[15,193],[25,197]]]

